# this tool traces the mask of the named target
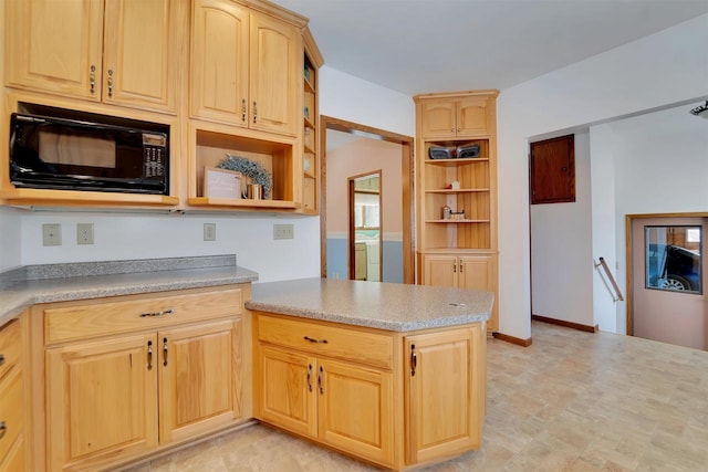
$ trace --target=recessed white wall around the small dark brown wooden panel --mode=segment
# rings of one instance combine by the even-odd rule
[[[533,314],[593,326],[590,134],[575,134],[575,201],[531,206]]]

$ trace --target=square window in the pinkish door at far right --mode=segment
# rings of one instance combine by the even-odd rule
[[[644,227],[646,287],[701,293],[700,227]]]

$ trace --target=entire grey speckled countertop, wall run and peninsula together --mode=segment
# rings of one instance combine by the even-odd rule
[[[31,265],[0,273],[0,325],[38,303],[258,281],[236,255]],[[300,279],[256,283],[246,307],[395,332],[489,319],[491,292]]]

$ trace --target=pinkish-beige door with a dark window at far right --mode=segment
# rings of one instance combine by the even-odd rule
[[[631,219],[628,334],[708,350],[707,221],[676,216]]]

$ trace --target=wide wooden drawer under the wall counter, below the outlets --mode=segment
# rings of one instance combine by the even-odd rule
[[[238,315],[241,289],[168,294],[44,310],[45,343],[59,343]]]

